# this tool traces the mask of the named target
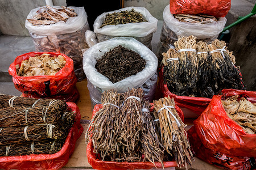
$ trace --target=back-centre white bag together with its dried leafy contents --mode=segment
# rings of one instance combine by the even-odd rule
[[[144,7],[126,7],[104,12],[93,24],[99,42],[113,37],[133,37],[151,49],[158,20]]]

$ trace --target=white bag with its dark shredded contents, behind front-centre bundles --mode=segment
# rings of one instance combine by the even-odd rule
[[[98,42],[84,53],[83,65],[93,106],[101,104],[102,92],[110,89],[124,92],[142,87],[146,99],[154,98],[157,58],[131,37]]]

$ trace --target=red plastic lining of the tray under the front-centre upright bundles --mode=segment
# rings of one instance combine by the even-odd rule
[[[98,112],[102,108],[102,104],[96,104],[93,109],[92,117],[96,112]],[[154,109],[154,105],[151,103],[150,111]],[[183,112],[179,107],[175,105],[175,109],[179,114],[181,120],[184,122]],[[96,158],[96,154],[93,152],[93,144],[91,140],[88,142],[86,147],[86,155],[90,165],[92,165],[93,169],[104,170],[104,169],[112,169],[112,170],[120,170],[120,169],[151,169],[154,168],[154,164],[151,162],[111,162],[111,161],[102,161]],[[177,163],[175,160],[169,162],[163,162],[164,168],[168,167],[177,167]],[[157,168],[162,168],[161,163],[155,162]]]

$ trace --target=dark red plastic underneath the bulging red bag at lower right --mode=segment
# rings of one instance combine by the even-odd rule
[[[247,156],[228,155],[205,147],[194,126],[188,130],[188,139],[193,155],[209,164],[224,169],[251,169],[250,158]]]

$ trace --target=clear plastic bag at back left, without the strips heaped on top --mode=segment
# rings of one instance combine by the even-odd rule
[[[53,7],[60,8],[58,6]],[[32,19],[40,8],[42,7],[31,10],[27,19]],[[82,49],[88,48],[85,42],[85,31],[89,29],[89,24],[84,7],[69,8],[73,8],[77,16],[69,18],[67,22],[32,25],[26,20],[25,27],[28,29],[34,42],[36,52],[66,54],[73,59],[75,74],[78,81],[81,81],[85,78],[84,71],[82,70]]]

